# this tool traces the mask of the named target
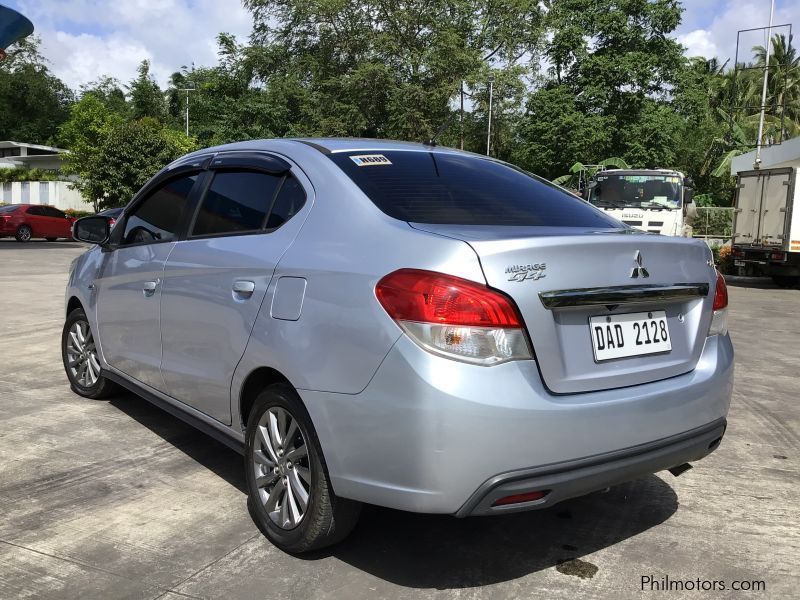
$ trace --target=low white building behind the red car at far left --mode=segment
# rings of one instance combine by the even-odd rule
[[[58,171],[66,150],[39,144],[0,141],[0,169],[44,169]],[[13,181],[0,186],[0,202],[49,204],[61,210],[91,210],[80,192],[64,181]]]

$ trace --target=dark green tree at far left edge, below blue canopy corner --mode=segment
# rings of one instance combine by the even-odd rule
[[[0,62],[0,139],[53,143],[69,115],[72,91],[47,67],[39,39],[23,39]]]

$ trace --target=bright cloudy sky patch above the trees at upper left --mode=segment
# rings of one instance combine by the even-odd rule
[[[160,85],[183,65],[214,65],[220,32],[249,36],[236,0],[18,0],[42,38],[53,72],[73,88],[111,75],[122,83],[144,59]]]

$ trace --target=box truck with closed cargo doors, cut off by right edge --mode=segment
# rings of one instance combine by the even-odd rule
[[[800,283],[800,169],[741,171],[733,219],[733,264],[740,275]]]

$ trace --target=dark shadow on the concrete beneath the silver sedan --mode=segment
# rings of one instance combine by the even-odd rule
[[[132,394],[110,403],[246,493],[235,451]],[[647,531],[677,509],[674,490],[655,475],[552,508],[503,516],[457,519],[365,505],[344,542],[296,558],[334,557],[408,588],[479,587],[551,567],[592,577],[597,567],[581,557]]]

